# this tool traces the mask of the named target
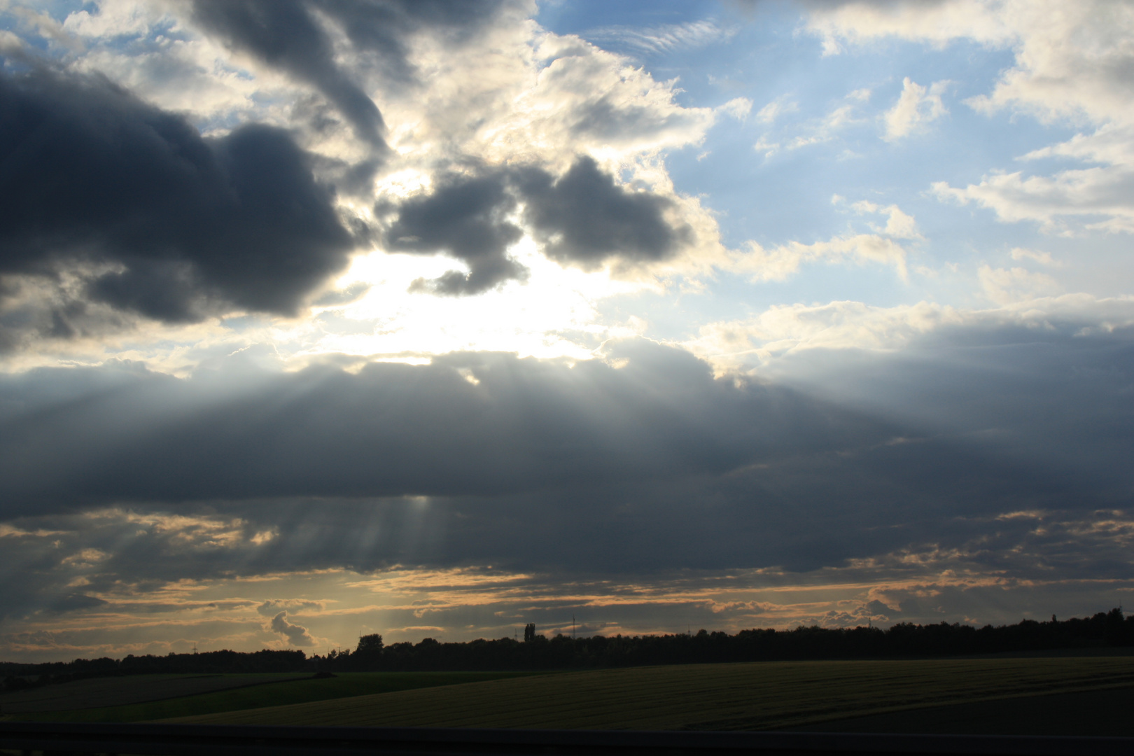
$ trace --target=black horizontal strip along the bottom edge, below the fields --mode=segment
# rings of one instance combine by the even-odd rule
[[[146,756],[1132,756],[1134,738],[0,722],[0,748]]]

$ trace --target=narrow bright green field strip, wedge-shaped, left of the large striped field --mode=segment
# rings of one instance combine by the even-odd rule
[[[547,672],[348,672],[333,678],[294,679],[287,685],[255,685],[194,696],[163,698],[122,706],[77,711],[34,712],[0,719],[39,722],[143,722],[268,706],[297,705],[440,685],[459,685]],[[141,677],[141,676],[139,676]],[[259,676],[265,677],[265,676]],[[127,678],[129,679],[129,678]]]

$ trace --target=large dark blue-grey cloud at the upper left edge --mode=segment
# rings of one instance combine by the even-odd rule
[[[164,321],[291,314],[352,238],[287,133],[203,139],[99,77],[0,76],[0,273],[109,265],[94,300]]]

